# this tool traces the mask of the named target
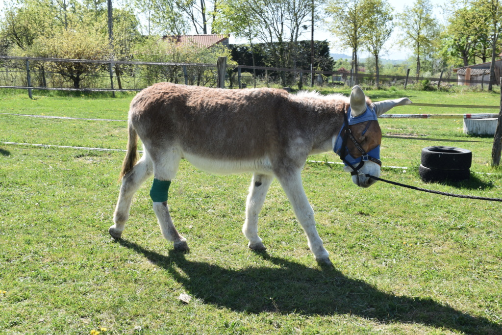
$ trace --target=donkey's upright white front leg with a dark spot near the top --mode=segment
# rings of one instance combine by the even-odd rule
[[[246,200],[246,220],[242,227],[242,233],[249,240],[247,246],[253,250],[266,250],[262,239],[258,236],[258,214],[262,209],[265,196],[269,190],[274,176],[255,173],[249,186],[249,194]]]

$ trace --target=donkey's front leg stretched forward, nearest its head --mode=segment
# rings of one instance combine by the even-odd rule
[[[277,176],[282,188],[286,192],[296,217],[307,235],[308,245],[315,259],[320,264],[331,265],[329,255],[322,245],[322,240],[315,228],[314,210],[310,206],[307,195],[302,186],[301,170],[295,169]]]

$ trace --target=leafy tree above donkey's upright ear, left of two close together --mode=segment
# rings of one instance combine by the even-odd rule
[[[357,83],[359,47],[369,28],[365,0],[331,0],[326,13],[332,19],[329,30],[340,38],[342,47],[352,49],[352,74]]]

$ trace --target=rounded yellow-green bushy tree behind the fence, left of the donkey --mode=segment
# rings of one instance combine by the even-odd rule
[[[62,30],[53,36],[39,37],[28,54],[35,57],[106,60],[110,49],[105,36],[83,29]],[[46,68],[61,74],[80,88],[80,82],[96,73],[100,64],[77,62],[48,62]]]

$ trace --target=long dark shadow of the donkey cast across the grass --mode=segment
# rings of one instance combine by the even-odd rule
[[[502,325],[430,298],[396,296],[331,268],[312,269],[266,252],[274,267],[226,269],[189,261],[170,250],[161,255],[133,242],[119,243],[167,270],[193,297],[237,312],[305,315],[352,314],[379,322],[421,323],[466,334],[500,334]],[[182,270],[184,274],[178,272]]]

